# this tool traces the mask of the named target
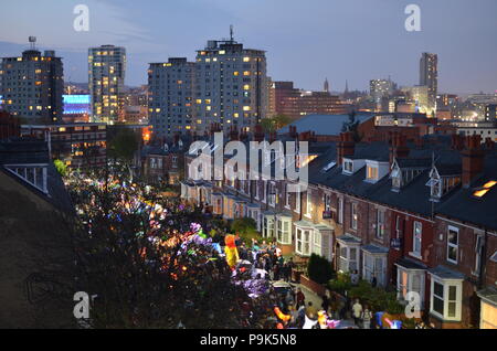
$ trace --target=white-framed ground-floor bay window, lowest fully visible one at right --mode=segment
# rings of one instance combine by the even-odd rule
[[[443,286],[443,297],[444,310],[443,315],[438,311],[434,310],[434,298],[435,298],[435,283]],[[451,287],[456,287],[456,296],[455,300],[450,300]],[[455,316],[448,316],[448,307],[450,304],[456,304],[455,306]],[[430,313],[446,321],[461,321],[462,318],[462,308],[463,308],[463,281],[455,279],[441,279],[434,275],[432,275],[432,286],[431,286],[431,296],[430,296]]]

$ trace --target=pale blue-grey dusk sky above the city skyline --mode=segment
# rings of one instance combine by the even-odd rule
[[[76,32],[76,4],[89,8],[89,32]],[[421,32],[408,32],[404,9],[421,7]],[[121,45],[127,85],[147,83],[149,62],[194,60],[208,40],[229,36],[267,51],[268,75],[297,87],[367,89],[388,77],[419,84],[422,52],[438,54],[440,91],[497,91],[496,0],[15,0],[2,1],[0,56],[15,56],[38,36],[64,57],[65,79],[87,82],[87,49]]]

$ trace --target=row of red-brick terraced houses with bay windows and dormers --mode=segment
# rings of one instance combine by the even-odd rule
[[[229,139],[248,146],[267,138],[257,128],[251,137],[233,129]],[[497,328],[497,148],[491,140],[453,135],[411,142],[393,131],[388,141],[356,142],[351,132],[342,132],[337,142],[318,142],[295,128],[267,141],[276,139],[308,141],[308,152],[295,155],[297,167],[308,166],[305,191],[292,193],[289,181],[262,174],[258,181],[193,181],[207,171],[190,167],[199,155],[193,152],[186,156],[182,198],[228,221],[254,219],[285,255],[305,260],[318,254],[336,270],[357,269],[362,279],[395,287],[401,301],[419,292],[422,310],[437,328]],[[219,146],[209,148],[215,152]],[[262,153],[262,162],[279,167],[277,152]]]

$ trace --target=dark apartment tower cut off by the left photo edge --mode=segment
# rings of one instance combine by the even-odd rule
[[[62,120],[64,68],[54,51],[42,54],[30,36],[31,49],[20,57],[3,57],[0,63],[0,105],[29,123]]]

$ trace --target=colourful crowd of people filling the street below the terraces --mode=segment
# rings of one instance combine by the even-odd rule
[[[183,257],[197,257],[193,269],[184,274],[194,274],[200,269],[213,281],[220,275],[231,275],[232,284],[243,287],[250,297],[250,300],[240,301],[242,327],[336,329],[352,327],[345,326],[345,321],[352,319],[352,328],[378,327],[371,308],[357,299],[341,298],[330,291],[320,297],[322,302],[319,304],[316,299],[306,299],[302,288],[293,280],[296,264],[293,258],[284,258],[275,242],[245,242],[236,233],[230,233],[225,224],[214,221],[212,213],[203,206],[183,203],[179,199],[157,199],[150,187],[128,183],[112,176],[105,181],[80,177],[73,179],[70,185],[89,235],[96,225],[93,221],[97,213],[105,212],[106,217],[117,222],[128,221],[128,215],[139,215],[147,222],[144,225],[146,230],[135,232],[130,230],[134,225],[123,223],[118,230],[123,231],[124,238],[142,236],[158,248],[181,247]],[[99,198],[98,191],[101,195],[112,196]],[[114,199],[114,203],[106,208],[106,199]],[[226,264],[224,246],[228,235],[235,237],[235,266]],[[353,272],[352,284],[358,277]]]

